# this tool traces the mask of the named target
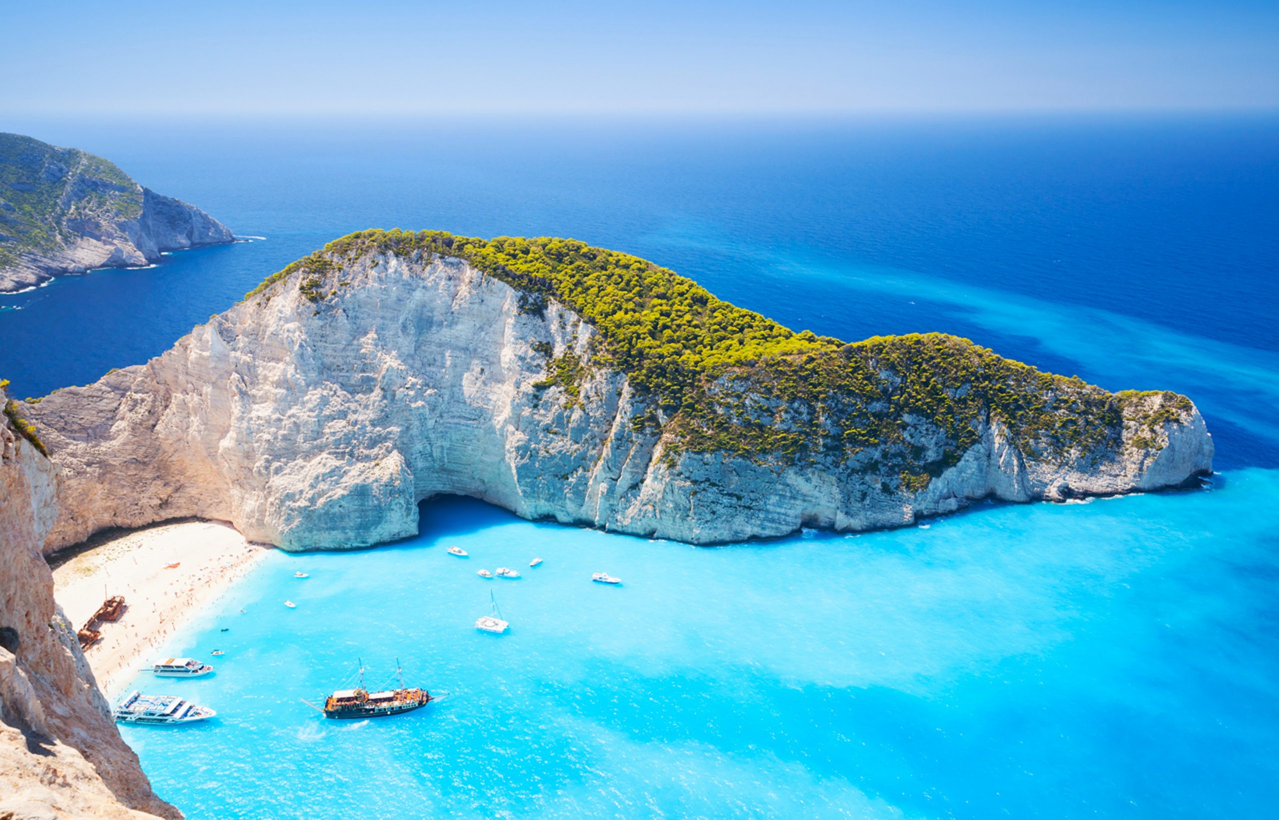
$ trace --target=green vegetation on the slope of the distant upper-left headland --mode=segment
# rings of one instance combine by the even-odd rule
[[[0,267],[26,251],[50,252],[68,221],[119,223],[142,214],[142,191],[100,156],[0,133]]]

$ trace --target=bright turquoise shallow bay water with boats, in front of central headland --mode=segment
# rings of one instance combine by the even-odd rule
[[[408,542],[272,554],[170,645],[226,651],[160,687],[219,718],[123,732],[193,819],[1259,816],[1279,798],[1259,504],[1279,471],[694,549],[445,499]],[[476,574],[499,565],[523,578]],[[490,590],[506,636],[473,628]],[[302,702],[357,658],[445,696],[358,723]]]

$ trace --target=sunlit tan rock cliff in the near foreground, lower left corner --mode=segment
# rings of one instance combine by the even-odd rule
[[[40,545],[55,494],[52,464],[0,417],[0,817],[180,817],[151,791],[54,603]]]

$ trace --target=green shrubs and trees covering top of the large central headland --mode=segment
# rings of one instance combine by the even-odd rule
[[[1095,458],[1115,449],[1134,400],[945,334],[845,344],[794,333],[665,267],[573,239],[366,230],[294,262],[246,298],[299,274],[302,294],[322,306],[349,285],[344,261],[375,253],[462,258],[519,290],[522,310],[540,312],[547,299],[572,308],[599,330],[593,361],[625,372],[651,400],[638,423],[670,432],[671,454],[852,459],[917,491],[977,443],[987,414],[1026,453]],[[576,404],[583,363],[545,353],[547,379],[537,386],[559,384]],[[1151,432],[1189,409],[1183,397],[1169,397],[1147,420]]]

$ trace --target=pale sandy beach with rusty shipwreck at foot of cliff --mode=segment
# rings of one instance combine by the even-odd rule
[[[102,624],[102,640],[84,652],[102,692],[114,701],[166,641],[253,569],[269,549],[249,544],[223,522],[134,530],[58,567],[54,596],[77,629],[106,596],[124,596],[124,617]],[[169,568],[174,563],[178,567]]]

